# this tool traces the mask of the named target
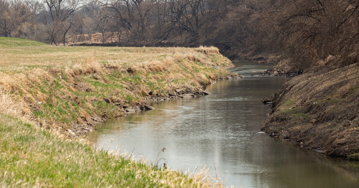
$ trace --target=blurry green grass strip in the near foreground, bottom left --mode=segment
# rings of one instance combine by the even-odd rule
[[[196,187],[186,175],[135,162],[0,114],[0,187]],[[164,183],[160,183],[163,180]]]

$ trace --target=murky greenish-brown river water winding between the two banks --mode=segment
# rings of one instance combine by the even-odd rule
[[[87,138],[97,148],[119,149],[186,171],[209,167],[238,187],[358,187],[359,164],[308,151],[260,131],[270,107],[261,99],[287,81],[250,77],[267,69],[236,63],[244,79],[217,81],[213,95],[153,103],[155,110],[109,120]],[[165,147],[165,151],[161,152]]]

